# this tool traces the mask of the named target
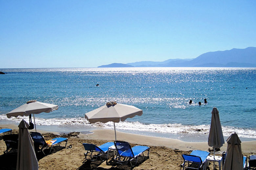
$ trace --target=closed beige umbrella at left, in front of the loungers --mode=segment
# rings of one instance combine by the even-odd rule
[[[18,155],[16,170],[36,170],[38,162],[35,156],[34,143],[29,134],[29,124],[22,119],[19,124]]]

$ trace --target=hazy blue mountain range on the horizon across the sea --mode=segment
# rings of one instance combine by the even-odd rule
[[[207,52],[195,59],[112,63],[98,67],[256,67],[256,47]]]

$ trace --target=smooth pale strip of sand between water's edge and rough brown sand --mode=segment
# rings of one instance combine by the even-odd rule
[[[18,129],[17,125],[6,124],[0,125],[0,128],[11,128]],[[29,130],[35,131],[35,129]],[[57,131],[52,130],[42,130],[37,129],[40,133],[53,133],[59,134]],[[70,131],[74,132],[74,131]],[[105,141],[114,141],[115,140],[115,132],[111,129],[96,129],[92,130],[93,133],[81,133],[78,136],[81,139],[85,140],[105,140]],[[140,145],[151,145],[151,146],[164,146],[171,149],[179,149],[184,151],[189,150],[208,150],[211,148],[208,146],[207,142],[185,142],[179,139],[171,139],[171,138],[162,138],[162,137],[154,137],[154,136],[146,136],[139,134],[131,134],[125,132],[117,132],[117,140],[127,141],[132,144],[140,144]],[[245,153],[256,153],[256,141],[242,141],[242,151]],[[221,147],[219,153],[226,151],[227,143]],[[218,153],[218,152],[217,152]]]

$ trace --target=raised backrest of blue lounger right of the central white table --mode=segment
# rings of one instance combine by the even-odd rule
[[[128,142],[115,141],[114,144],[116,146],[118,155],[122,155],[126,157],[134,157],[131,145]]]

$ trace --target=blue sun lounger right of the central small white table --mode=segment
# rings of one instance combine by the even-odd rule
[[[149,158],[149,146],[134,146],[131,147],[131,145],[128,142],[124,141],[115,141],[114,142],[116,149],[117,149],[117,157],[115,158],[116,163],[120,164],[127,164],[130,162],[131,166],[134,167],[138,162],[139,155],[143,155],[144,160],[146,157],[144,156],[143,152],[148,151],[147,158]],[[123,159],[121,159],[123,158]],[[136,159],[136,163],[133,165],[132,161]]]

